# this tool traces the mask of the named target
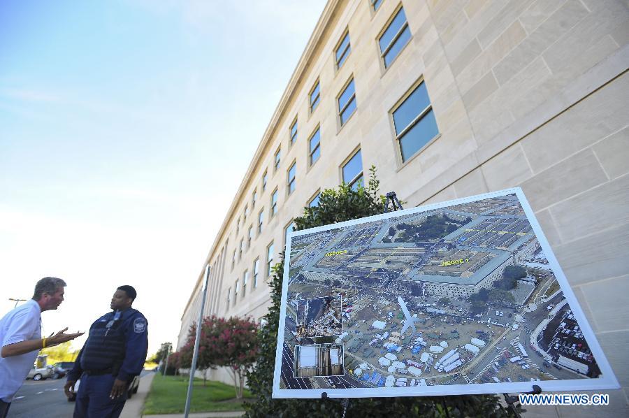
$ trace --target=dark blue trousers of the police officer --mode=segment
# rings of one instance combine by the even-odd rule
[[[76,394],[74,418],[118,418],[126,402],[126,391],[122,396],[111,399],[109,394],[115,377],[112,375],[81,376]]]

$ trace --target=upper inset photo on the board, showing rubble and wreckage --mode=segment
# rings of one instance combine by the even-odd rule
[[[340,336],[341,314],[340,296],[298,300],[296,338]]]

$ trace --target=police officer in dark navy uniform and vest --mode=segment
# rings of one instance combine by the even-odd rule
[[[133,377],[143,369],[148,349],[147,321],[131,308],[136,289],[120,286],[111,299],[113,310],[92,324],[85,345],[68,373],[66,396],[74,394],[80,377],[74,418],[117,418]]]

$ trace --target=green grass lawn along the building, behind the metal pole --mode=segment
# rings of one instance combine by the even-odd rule
[[[194,380],[190,412],[240,411],[243,401],[236,400],[233,386],[208,380],[203,387],[202,379]],[[144,404],[145,414],[173,414],[184,412],[188,378],[156,375],[151,391]],[[245,398],[252,398],[247,389]]]

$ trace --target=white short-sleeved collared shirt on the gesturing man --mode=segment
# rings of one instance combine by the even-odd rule
[[[41,338],[41,308],[33,299],[8,312],[0,319],[0,343],[9,344]],[[33,368],[39,350],[2,358],[0,356],[0,399],[13,400],[17,389]]]

